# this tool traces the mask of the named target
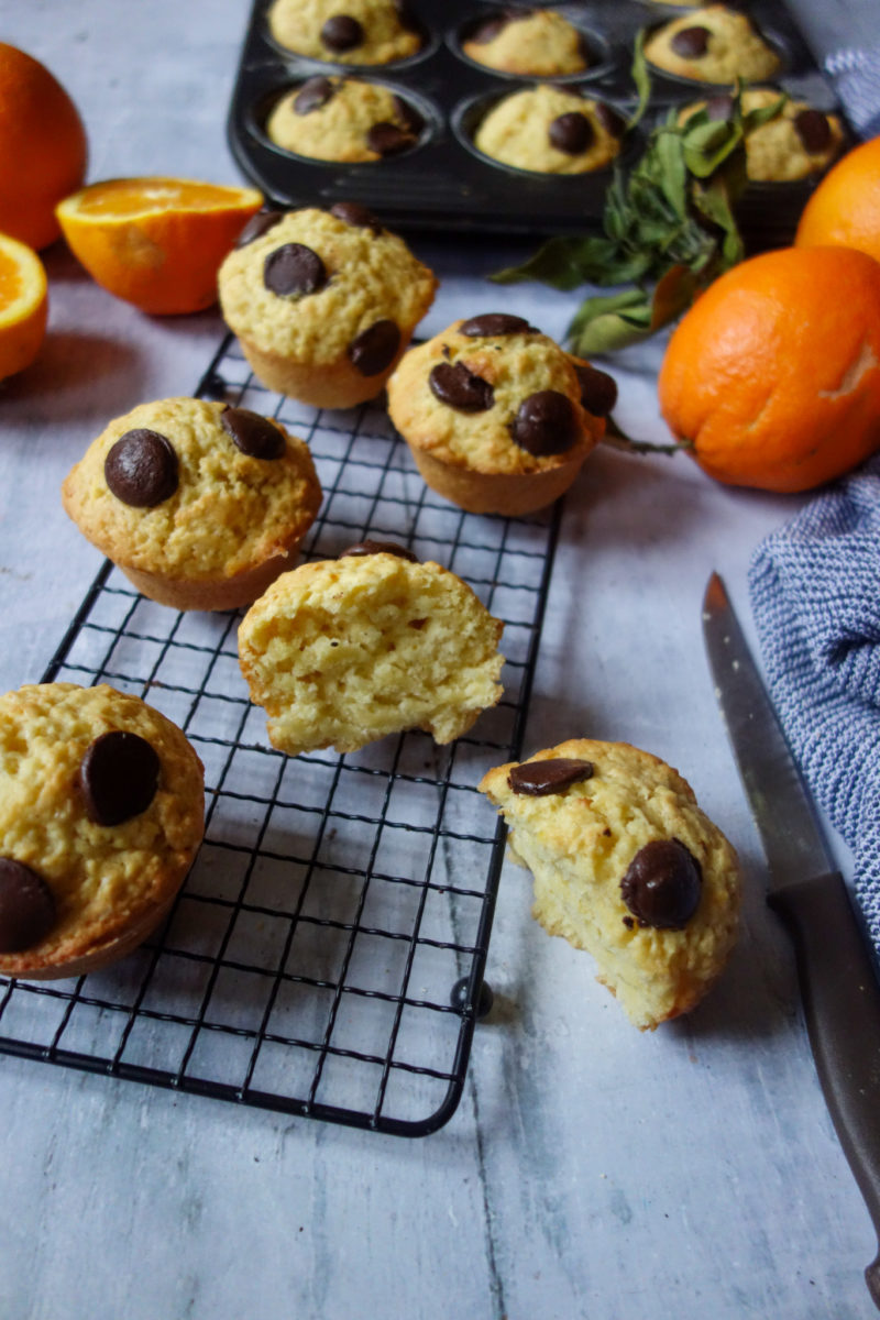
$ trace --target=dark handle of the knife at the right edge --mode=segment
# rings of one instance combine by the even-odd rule
[[[794,940],[815,1068],[880,1236],[880,985],[839,873],[768,896]],[[880,1253],[864,1271],[880,1307]]]

